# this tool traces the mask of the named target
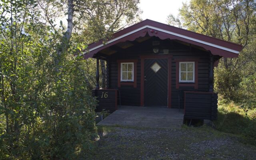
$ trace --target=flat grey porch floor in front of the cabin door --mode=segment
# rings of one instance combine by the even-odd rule
[[[180,128],[184,110],[163,107],[118,106],[118,110],[97,125]]]

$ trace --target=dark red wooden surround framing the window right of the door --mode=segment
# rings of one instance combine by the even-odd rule
[[[183,59],[176,59],[176,89],[179,89],[180,86],[194,86],[195,89],[198,89],[198,58],[183,58]],[[194,83],[180,83],[179,76],[180,76],[180,62],[195,62],[195,82]]]

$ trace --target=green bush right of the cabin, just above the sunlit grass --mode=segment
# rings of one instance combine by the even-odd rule
[[[219,64],[214,70],[214,90],[222,98],[256,108],[256,73],[243,74]]]

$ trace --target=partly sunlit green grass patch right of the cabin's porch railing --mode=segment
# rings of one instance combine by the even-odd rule
[[[245,143],[256,146],[256,108],[246,112],[234,102],[219,100],[216,129],[241,136]]]

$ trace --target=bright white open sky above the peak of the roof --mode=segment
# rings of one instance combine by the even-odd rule
[[[143,11],[143,20],[150,19],[161,23],[166,23],[167,16],[173,14],[177,16],[182,2],[190,0],[140,0],[139,7]]]

